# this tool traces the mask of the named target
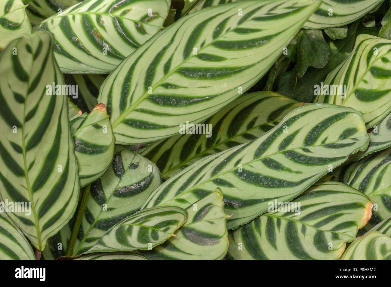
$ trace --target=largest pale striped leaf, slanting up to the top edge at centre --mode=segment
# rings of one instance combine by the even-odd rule
[[[203,9],[156,34],[100,89],[116,143],[149,143],[178,134],[181,123],[202,123],[269,70],[318,5],[248,0]]]

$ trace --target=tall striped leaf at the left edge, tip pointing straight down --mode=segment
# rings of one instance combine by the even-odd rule
[[[38,250],[68,223],[79,196],[68,100],[52,95],[52,83],[63,84],[52,50],[52,36],[39,31],[0,54],[0,198],[31,203],[31,214],[9,216]]]

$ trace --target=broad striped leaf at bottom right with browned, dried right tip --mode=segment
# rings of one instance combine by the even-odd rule
[[[371,217],[372,203],[340,182],[322,182],[294,201],[228,233],[234,260],[335,260]]]

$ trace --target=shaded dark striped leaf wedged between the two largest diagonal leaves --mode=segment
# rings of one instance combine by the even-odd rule
[[[140,154],[155,162],[167,179],[207,155],[260,137],[300,105],[303,103],[274,92],[244,94],[204,122],[209,135],[174,135],[151,144]]]

